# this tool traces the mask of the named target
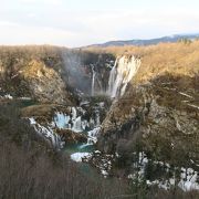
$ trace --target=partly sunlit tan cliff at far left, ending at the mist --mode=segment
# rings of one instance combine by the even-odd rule
[[[0,95],[25,96],[42,103],[74,103],[60,74],[61,51],[51,46],[1,48]]]

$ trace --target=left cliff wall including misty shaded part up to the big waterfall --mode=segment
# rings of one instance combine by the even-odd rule
[[[0,49],[0,95],[75,105],[78,95],[105,94],[115,56],[53,46]]]

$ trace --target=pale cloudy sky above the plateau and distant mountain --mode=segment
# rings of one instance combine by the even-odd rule
[[[0,0],[0,44],[77,48],[199,33],[199,0]]]

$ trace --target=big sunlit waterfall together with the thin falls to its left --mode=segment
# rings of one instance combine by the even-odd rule
[[[100,78],[98,73],[95,71],[94,65],[91,65],[92,69],[92,85],[91,85],[91,95],[106,93],[112,98],[123,96],[126,86],[132,81],[132,78],[137,73],[140,66],[140,59],[136,59],[133,55],[123,55],[117,57],[114,66],[109,72],[108,77],[108,88],[103,87],[102,81],[107,81]]]

